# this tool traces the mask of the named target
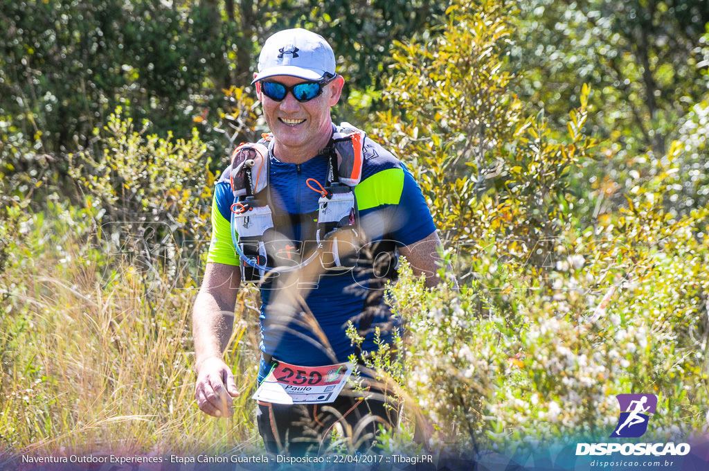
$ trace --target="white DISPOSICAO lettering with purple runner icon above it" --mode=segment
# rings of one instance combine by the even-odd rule
[[[657,411],[657,396],[654,394],[618,394],[620,405],[618,424],[609,438],[638,438],[647,432],[650,415]],[[670,455],[689,453],[688,443],[577,443],[576,455]]]

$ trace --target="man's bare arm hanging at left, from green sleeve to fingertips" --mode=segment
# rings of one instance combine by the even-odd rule
[[[234,325],[240,284],[239,267],[207,263],[202,286],[192,309],[199,408],[215,417],[231,416],[238,389],[230,367],[222,359]]]

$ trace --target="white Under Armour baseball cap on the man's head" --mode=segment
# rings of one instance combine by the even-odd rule
[[[335,75],[335,53],[321,35],[302,28],[279,31],[270,36],[259,55],[258,73],[253,82],[289,75],[320,80]]]

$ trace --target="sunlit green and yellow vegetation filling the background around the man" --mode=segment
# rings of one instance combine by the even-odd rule
[[[255,292],[233,419],[194,404],[189,309],[215,174],[264,131],[253,58],[291,26],[333,44],[336,118],[415,173],[462,286],[393,287],[386,447],[607,436],[627,392],[659,397],[657,438],[705,434],[708,21],[691,0],[2,2],[0,463],[259,448]]]

